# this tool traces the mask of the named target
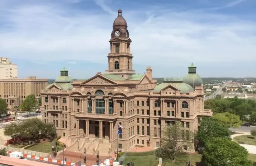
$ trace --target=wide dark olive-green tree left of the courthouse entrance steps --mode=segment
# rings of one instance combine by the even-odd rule
[[[54,128],[51,124],[43,123],[40,119],[33,118],[16,124],[10,123],[4,127],[4,135],[27,138],[35,141],[37,137],[52,137]]]

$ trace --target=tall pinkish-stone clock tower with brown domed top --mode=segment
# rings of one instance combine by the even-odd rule
[[[131,74],[135,74],[135,70],[132,70],[133,56],[130,53],[131,39],[129,38],[126,20],[120,9],[117,18],[114,20],[109,42],[110,53],[107,56],[108,70],[106,70],[106,74],[116,74],[124,79],[127,79]]]

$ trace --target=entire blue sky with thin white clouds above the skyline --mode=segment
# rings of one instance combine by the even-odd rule
[[[0,0],[0,57],[18,77],[74,79],[108,68],[117,10],[128,24],[133,69],[153,77],[256,77],[256,0]]]

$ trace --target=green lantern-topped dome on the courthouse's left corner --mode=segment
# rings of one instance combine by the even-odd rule
[[[55,80],[55,82],[53,84],[46,86],[45,89],[48,89],[53,85],[56,85],[64,91],[71,90],[73,89],[72,82],[73,79],[68,76],[68,70],[66,68],[63,68],[60,70],[60,76]]]

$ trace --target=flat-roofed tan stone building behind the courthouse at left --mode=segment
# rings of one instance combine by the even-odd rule
[[[8,103],[9,108],[20,106],[28,95],[34,94],[39,99],[42,89],[47,85],[48,79],[36,77],[0,79],[0,98]]]

